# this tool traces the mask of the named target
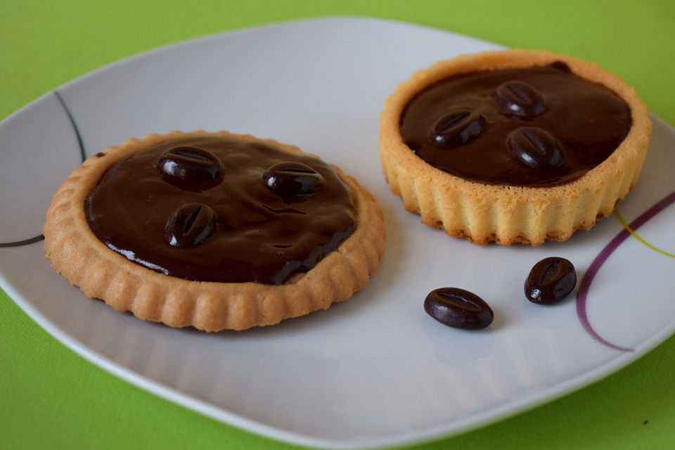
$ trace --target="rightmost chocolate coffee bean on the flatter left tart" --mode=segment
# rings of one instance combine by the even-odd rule
[[[311,195],[326,184],[323,176],[302,162],[277,162],[262,174],[262,181],[276,193]]]

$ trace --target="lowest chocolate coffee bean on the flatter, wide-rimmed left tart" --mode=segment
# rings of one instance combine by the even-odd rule
[[[164,231],[170,245],[194,247],[210,238],[215,229],[214,210],[201,203],[187,203],[171,214]]]

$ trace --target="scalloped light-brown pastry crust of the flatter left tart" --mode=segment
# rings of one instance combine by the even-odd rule
[[[227,131],[149,134],[140,140],[128,139],[120,146],[108,147],[102,152],[105,155],[92,156],[77,167],[52,198],[42,232],[46,256],[54,270],[79,286],[87,297],[104,300],[119,311],[131,311],[140,319],[172,327],[194,326],[206,331],[272,325],[326,309],[333,302],[347,300],[368,284],[368,277],[375,273],[384,252],[383,214],[371,193],[335,166],[332,167],[340,179],[352,189],[355,231],[314,268],[281,285],[187,281],[146,269],[110,250],[89,229],[84,198],[117,161],[162,141],[184,136],[262,141],[290,153],[307,155],[294,146]]]

